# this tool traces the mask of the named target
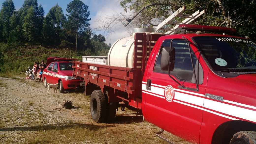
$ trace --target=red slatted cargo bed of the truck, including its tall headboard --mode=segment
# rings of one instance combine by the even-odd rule
[[[153,49],[155,42],[163,35],[152,34],[150,42],[151,50],[148,49],[149,46],[146,42],[146,36],[145,33],[135,34],[133,68],[73,61],[73,76],[84,79],[86,95],[90,95],[91,91],[87,89],[87,85],[92,83],[100,87],[104,93],[111,93],[108,96],[109,103],[123,100],[129,102],[130,106],[141,109],[142,78],[146,61],[148,60],[149,52]],[[96,87],[96,89],[99,89],[98,87]]]

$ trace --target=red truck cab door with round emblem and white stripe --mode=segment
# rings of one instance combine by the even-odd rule
[[[203,74],[199,73],[199,91],[197,91],[189,47],[185,40],[173,40],[175,64],[170,75],[182,86],[192,88],[192,90],[181,88],[177,82],[169,77],[168,71],[161,70],[162,49],[163,47],[170,47],[170,41],[170,39],[163,41],[155,64],[151,64],[152,69],[149,68],[148,70],[147,81],[143,81],[145,86],[142,89],[142,92],[145,93],[145,117],[152,124],[174,135],[199,143],[206,87],[202,83]],[[197,73],[202,73],[201,65],[192,50],[191,52],[193,64],[198,70]]]

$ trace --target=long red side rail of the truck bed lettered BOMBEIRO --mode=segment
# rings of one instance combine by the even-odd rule
[[[112,87],[117,90],[141,96],[141,68],[116,67],[73,61],[73,75],[84,78],[86,85],[93,83],[103,88]]]

